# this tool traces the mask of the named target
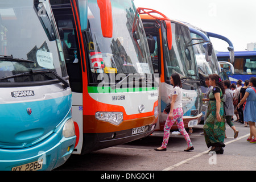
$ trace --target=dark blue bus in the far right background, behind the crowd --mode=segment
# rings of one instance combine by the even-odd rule
[[[218,52],[218,61],[230,62],[229,52]],[[256,76],[256,51],[235,51],[234,52],[234,74],[229,75],[232,83],[237,80],[249,80]],[[225,68],[224,68],[225,69]],[[242,83],[243,83],[242,82]]]

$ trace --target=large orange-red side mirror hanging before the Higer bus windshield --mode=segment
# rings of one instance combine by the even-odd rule
[[[97,0],[101,15],[101,31],[104,38],[113,36],[112,6],[110,0]]]

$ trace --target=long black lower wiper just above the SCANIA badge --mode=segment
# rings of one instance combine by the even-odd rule
[[[20,76],[29,76],[29,75],[38,75],[38,74],[44,75],[44,73],[52,73],[61,83],[64,84],[63,85],[64,89],[69,87],[68,81],[65,80],[63,77],[59,76],[57,73],[53,72],[51,69],[36,69],[36,70],[31,69],[29,72],[19,73],[16,75],[0,78],[0,81],[10,79],[10,78],[16,78]]]

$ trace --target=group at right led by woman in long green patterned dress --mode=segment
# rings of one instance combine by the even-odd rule
[[[233,129],[234,138],[238,137],[239,131],[232,122],[234,115],[237,116],[236,122],[245,123],[246,127],[249,123],[250,137],[247,141],[256,143],[256,77],[245,80],[242,86],[242,80],[238,80],[237,85],[231,85],[229,80],[222,81],[220,76],[213,74],[209,76],[209,83],[213,88],[209,94],[203,129],[205,142],[208,148],[212,147],[210,151],[223,154],[225,121]]]

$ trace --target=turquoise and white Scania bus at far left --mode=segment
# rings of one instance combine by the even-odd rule
[[[76,142],[72,94],[51,6],[0,2],[0,170],[51,170]]]

